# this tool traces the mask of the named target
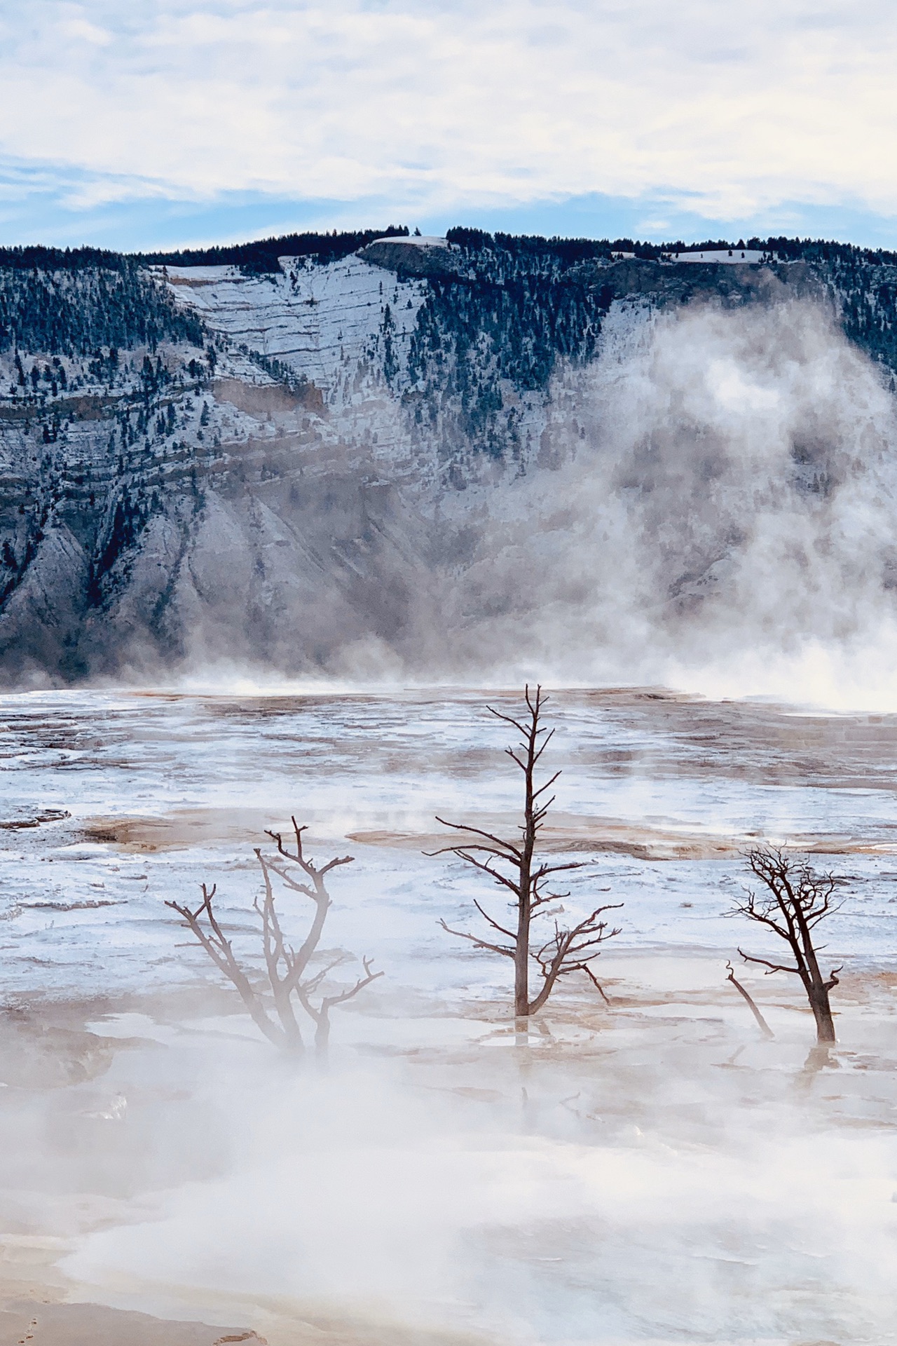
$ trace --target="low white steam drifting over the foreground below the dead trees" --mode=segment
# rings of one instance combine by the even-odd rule
[[[122,1307],[151,1296],[178,1311],[188,1268],[195,1300],[231,1318],[254,1303],[258,1322],[268,1303],[297,1327],[379,1320],[383,1338],[343,1326],[352,1342],[389,1324],[428,1346],[885,1339],[886,1139],[808,1135],[785,1079],[776,1104],[745,1112],[741,1077],[698,1084],[671,1043],[668,1074],[656,1043],[628,1049],[635,1077],[625,1053],[616,1069],[555,1055],[518,1075],[487,1051],[467,1059],[459,1093],[445,1065],[414,1081],[381,1063],[290,1085],[245,1063],[215,1098],[233,1123],[229,1171],[87,1236],[63,1269]]]

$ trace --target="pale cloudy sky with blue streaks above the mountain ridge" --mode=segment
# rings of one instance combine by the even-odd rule
[[[0,244],[897,248],[893,0],[0,0]]]

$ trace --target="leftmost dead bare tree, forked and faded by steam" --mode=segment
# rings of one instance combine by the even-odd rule
[[[215,886],[208,888],[202,884],[203,900],[196,907],[190,907],[179,902],[165,902],[178,915],[183,918],[188,929],[196,937],[211,961],[223,972],[239,992],[239,996],[249,1011],[253,1023],[261,1030],[269,1042],[284,1051],[301,1053],[304,1050],[303,1032],[296,1018],[293,997],[315,1023],[315,1046],[319,1051],[327,1049],[329,1039],[329,1012],[335,1005],[344,1004],[382,977],[382,972],[371,970],[371,960],[363,958],[364,976],[355,981],[355,985],[346,987],[336,993],[320,995],[317,1004],[315,997],[329,973],[346,958],[343,953],[315,970],[309,972],[309,964],[317,952],[327,913],[332,906],[332,899],[327,891],[325,878],[339,865],[351,864],[352,856],[346,855],[328,860],[320,868],[309,860],[303,851],[303,832],[296,818],[292,820],[296,835],[296,849],[290,851],[284,845],[280,832],[266,832],[266,836],[277,844],[274,857],[262,855],[256,847],[256,859],[262,871],[264,891],[261,898],[256,898],[253,906],[262,922],[262,953],[265,957],[265,970],[268,977],[266,989],[260,989],[243,970],[227,935],[225,934],[212,900]],[[303,878],[296,876],[296,868]],[[277,894],[272,876],[277,876],[290,892],[300,892],[311,898],[315,911],[305,938],[299,949],[286,942],[277,910]],[[308,975],[307,975],[308,973]],[[269,1011],[270,1001],[273,1015]]]

